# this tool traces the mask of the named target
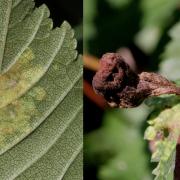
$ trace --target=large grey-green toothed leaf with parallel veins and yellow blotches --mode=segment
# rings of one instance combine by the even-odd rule
[[[82,63],[67,22],[0,2],[0,179],[82,179]]]

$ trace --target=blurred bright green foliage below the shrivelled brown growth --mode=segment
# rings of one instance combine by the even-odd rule
[[[147,113],[145,107],[109,110],[103,126],[86,136],[85,164],[99,167],[100,180],[151,179],[140,133]]]

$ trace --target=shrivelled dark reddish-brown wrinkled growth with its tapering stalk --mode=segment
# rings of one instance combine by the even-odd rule
[[[136,107],[144,99],[161,94],[180,95],[180,88],[156,73],[133,72],[118,53],[103,55],[92,84],[112,107]]]

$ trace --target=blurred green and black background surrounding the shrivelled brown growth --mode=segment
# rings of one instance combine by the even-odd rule
[[[136,72],[179,77],[176,63],[162,62],[179,19],[179,0],[84,0],[85,180],[153,179],[151,146],[143,139],[151,109],[110,109],[91,82],[106,52],[119,52]]]

